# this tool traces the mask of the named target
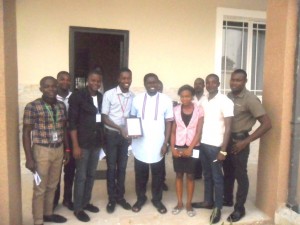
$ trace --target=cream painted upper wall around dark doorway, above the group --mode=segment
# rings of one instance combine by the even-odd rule
[[[266,0],[17,0],[19,83],[68,70],[69,26],[129,30],[134,87],[148,72],[166,88],[192,83],[214,72],[217,6],[266,10]]]

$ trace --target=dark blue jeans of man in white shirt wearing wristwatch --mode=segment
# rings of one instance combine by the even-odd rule
[[[204,175],[204,201],[214,203],[216,208],[222,209],[224,188],[222,162],[213,162],[217,159],[221,148],[201,143],[200,150]]]

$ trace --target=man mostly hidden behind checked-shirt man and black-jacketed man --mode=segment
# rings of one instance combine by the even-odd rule
[[[65,104],[67,112],[69,110],[69,97],[72,92],[70,91],[71,87],[71,76],[67,71],[60,71],[57,74],[57,95],[56,99]],[[66,149],[71,153],[71,137],[68,132],[68,142],[70,149]],[[69,210],[73,210],[73,201],[72,201],[72,192],[73,192],[73,182],[75,176],[75,159],[72,154],[70,154],[69,162],[64,164],[64,196],[63,196],[63,206],[67,207]],[[57,184],[57,188],[55,191],[53,208],[55,208],[58,204],[60,197],[60,181]]]

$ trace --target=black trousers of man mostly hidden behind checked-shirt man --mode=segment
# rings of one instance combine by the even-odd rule
[[[71,202],[72,201],[72,193],[73,193],[73,182],[75,176],[75,159],[73,158],[72,153],[70,153],[70,161],[67,165],[63,166],[64,170],[64,196],[63,201]],[[60,198],[60,181],[57,184],[57,188],[55,191],[53,204],[57,205]]]

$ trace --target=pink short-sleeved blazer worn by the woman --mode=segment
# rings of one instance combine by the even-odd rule
[[[194,111],[189,125],[186,127],[181,117],[181,105],[174,108],[174,118],[177,125],[176,128],[176,145],[189,146],[196,134],[199,118],[203,117],[203,109],[197,105],[194,105]],[[199,143],[196,144],[198,146]]]

